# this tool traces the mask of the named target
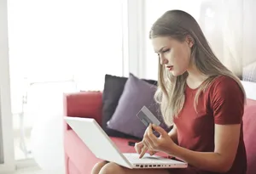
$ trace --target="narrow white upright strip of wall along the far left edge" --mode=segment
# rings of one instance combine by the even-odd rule
[[[0,107],[4,163],[0,173],[15,170],[12,116],[10,109],[7,0],[0,0]]]

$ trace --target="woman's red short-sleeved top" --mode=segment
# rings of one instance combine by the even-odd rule
[[[247,157],[242,132],[244,95],[241,92],[241,88],[232,78],[218,76],[212,81],[206,92],[201,94],[197,106],[198,113],[195,112],[194,108],[196,91],[197,89],[186,87],[183,109],[177,118],[174,119],[177,126],[179,146],[194,151],[213,152],[214,124],[241,124],[236,160],[230,171],[226,172],[226,174],[245,174],[247,170]],[[191,174],[214,173],[201,171],[192,166],[187,171]]]

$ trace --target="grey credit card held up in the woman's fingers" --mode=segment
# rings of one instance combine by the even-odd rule
[[[146,106],[143,106],[143,108],[137,113],[137,117],[147,127],[150,123],[156,126],[160,126],[160,121],[152,114],[152,112]]]

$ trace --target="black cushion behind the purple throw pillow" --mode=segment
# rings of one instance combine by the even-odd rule
[[[118,132],[112,129],[109,129],[107,122],[111,119],[118,103],[119,98],[122,95],[127,77],[123,76],[105,76],[104,90],[102,94],[102,128],[108,134],[108,136],[119,137],[119,138],[134,138],[123,132]],[[157,84],[157,81],[146,80],[149,84]]]

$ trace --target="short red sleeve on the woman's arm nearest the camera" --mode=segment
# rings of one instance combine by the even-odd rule
[[[244,94],[230,77],[216,81],[212,92],[212,111],[215,124],[240,124],[244,111]]]

